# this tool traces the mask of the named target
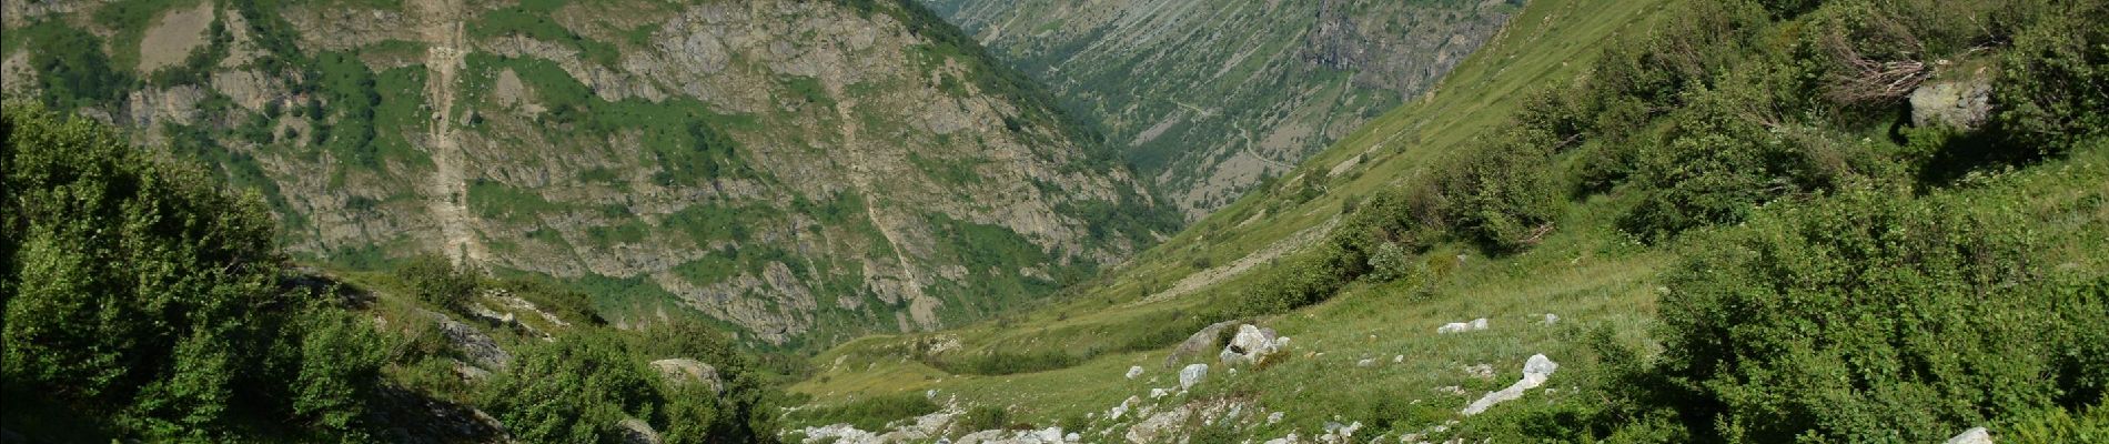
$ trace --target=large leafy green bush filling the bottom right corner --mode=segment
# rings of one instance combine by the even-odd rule
[[[2044,276],[2027,225],[1997,202],[1850,191],[1696,242],[1662,299],[1685,423],[1729,442],[1938,442],[2101,404],[2109,280]]]

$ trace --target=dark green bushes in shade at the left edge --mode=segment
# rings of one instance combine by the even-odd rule
[[[272,219],[253,196],[32,105],[8,103],[0,135],[8,429],[365,436],[386,339],[331,299],[280,288]],[[13,406],[25,398],[78,417],[25,419],[44,415]]]

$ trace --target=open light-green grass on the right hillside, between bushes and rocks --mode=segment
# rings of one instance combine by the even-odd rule
[[[1257,274],[1227,278],[1173,301],[1137,303],[1137,299],[1194,274],[1196,257],[1206,257],[1202,263],[1211,265],[1232,263],[1305,227],[1324,225],[1339,215],[1348,198],[1369,196],[1417,175],[1426,160],[1440,156],[1445,147],[1506,122],[1523,93],[1578,76],[1588,65],[1584,57],[1597,55],[1609,36],[1645,29],[1645,23],[1658,19],[1658,11],[1662,2],[1531,2],[1443,86],[1373,120],[1282,181],[1295,183],[1299,175],[1324,177],[1335,164],[1365,156],[1358,173],[1322,179],[1327,194],[1284,204],[1282,185],[1255,191],[1101,282],[1076,290],[1078,295],[1059,305],[945,332],[964,341],[964,349],[953,354],[989,349],[1086,354],[1124,349],[1122,345],[1137,341],[1152,343],[1149,339],[1166,335],[1183,339],[1196,326],[1215,322],[1196,320],[1187,311],[1202,311],[1200,307],[1213,297],[1238,292]],[[1550,345],[1567,337],[1569,328],[1525,326],[1531,316],[1552,311],[1569,320],[1639,328],[1653,309],[1653,286],[1647,280],[1666,263],[1666,255],[1639,253],[1637,246],[1624,244],[1607,227],[1609,213],[1592,210],[1599,204],[1603,202],[1573,204],[1563,221],[1597,229],[1563,229],[1533,253],[1502,261],[1466,259],[1451,282],[1443,282],[1428,299],[1405,297],[1413,290],[1402,284],[1354,284],[1329,303],[1265,320],[1263,324],[1297,339],[1293,345],[1297,358],[1232,385],[1270,387],[1259,391],[1261,404],[1291,408],[1289,421],[1280,427],[1310,429],[1316,421],[1341,412],[1339,406],[1369,404],[1386,396],[1428,398],[1424,404],[1430,406],[1428,417],[1440,417],[1438,410],[1455,410],[1466,400],[1440,398],[1428,387],[1491,389],[1506,383],[1468,379],[1459,366],[1493,364],[1504,372],[1499,379],[1512,379],[1523,358],[1535,351],[1552,354]],[[1491,318],[1495,328],[1472,337],[1434,335],[1443,322],[1470,318]],[[820,377],[795,385],[793,391],[848,400],[858,393],[939,389],[957,393],[966,402],[1017,404],[1019,419],[1054,423],[1105,410],[1133,393],[1147,393],[1149,387],[1173,385],[1170,370],[1162,368],[1166,341],[1154,341],[1158,347],[1143,351],[1103,354],[1061,370],[1006,377],[947,375],[903,358],[913,349],[909,345],[913,341],[869,337],[820,354],[814,358],[823,368]],[[1308,351],[1324,356],[1305,358]],[[1208,354],[1213,356],[1213,349]],[[1402,366],[1354,368],[1356,360],[1390,362],[1392,356],[1411,360]],[[1561,360],[1559,354],[1552,358]],[[1149,368],[1147,377],[1120,379],[1130,364]],[[1354,383],[1343,385],[1346,381]]]

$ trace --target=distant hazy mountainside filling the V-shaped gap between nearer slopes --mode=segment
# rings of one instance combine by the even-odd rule
[[[1187,217],[1430,88],[1502,0],[924,0],[1103,124]]]

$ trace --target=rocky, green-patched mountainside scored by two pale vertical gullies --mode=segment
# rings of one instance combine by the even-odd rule
[[[299,257],[445,253],[778,345],[1017,305],[1154,240],[1124,166],[909,2],[8,0],[11,97],[259,191]]]

